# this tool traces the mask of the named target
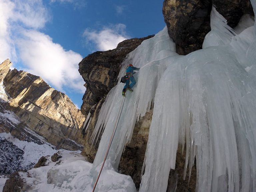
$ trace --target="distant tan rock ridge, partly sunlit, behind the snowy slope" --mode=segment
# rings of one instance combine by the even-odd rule
[[[11,97],[8,108],[21,122],[57,148],[82,149],[75,142],[79,142],[85,117],[67,95],[51,88],[41,77],[17,69],[5,75],[3,85]]]

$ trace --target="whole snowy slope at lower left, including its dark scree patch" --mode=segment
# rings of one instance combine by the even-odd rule
[[[19,129],[17,125],[20,119],[11,111],[5,109],[8,102],[3,85],[0,85],[0,191],[11,173],[18,172],[19,178],[23,180],[21,188],[12,188],[17,184],[8,182],[8,192],[16,190],[23,192],[84,192],[92,191],[93,175],[91,173],[92,164],[80,155],[81,151],[68,151],[56,149],[55,146],[46,140],[23,127],[20,138],[12,136],[10,131]],[[3,128],[5,127],[5,128]],[[61,155],[58,162],[53,162],[51,156],[54,153]],[[45,156],[46,166],[33,168],[38,160]],[[100,169],[100,166],[97,170]],[[109,161],[99,179],[98,191],[102,192],[136,192],[135,185],[130,176],[117,173]]]

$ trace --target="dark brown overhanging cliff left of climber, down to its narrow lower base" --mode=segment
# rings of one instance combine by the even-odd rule
[[[91,114],[90,127],[86,133],[84,130],[87,125],[82,130],[81,141],[83,141],[84,145],[82,154],[87,155],[91,162],[96,155],[98,143],[92,147],[90,136],[97,121],[101,105],[104,102],[104,97],[117,84],[117,76],[126,55],[138,47],[142,41],[153,36],[125,40],[119,43],[116,49],[97,51],[88,55],[79,63],[79,73],[86,82],[86,92],[83,96],[81,111],[86,116],[89,112]]]

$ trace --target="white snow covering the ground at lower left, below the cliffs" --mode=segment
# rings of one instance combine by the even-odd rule
[[[33,168],[27,172],[19,172],[24,178],[24,190],[27,192],[84,192],[92,191],[92,164],[80,155],[81,151],[55,150],[51,144],[38,145],[33,142],[20,141],[9,133],[0,133],[14,145],[24,150],[24,166],[37,163],[40,157],[47,157],[47,166]],[[52,162],[51,155],[60,152],[60,163]],[[101,165],[97,168],[99,170]],[[8,178],[0,176],[0,191],[3,190]],[[117,173],[107,161],[99,179],[97,192],[136,192],[136,187],[130,176]]]

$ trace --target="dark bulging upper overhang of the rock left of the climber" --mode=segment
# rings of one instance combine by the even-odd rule
[[[79,73],[86,82],[86,92],[81,107],[84,115],[87,115],[92,106],[116,85],[120,66],[126,55],[138,47],[143,40],[153,36],[124,40],[116,49],[97,51],[79,63]]]

